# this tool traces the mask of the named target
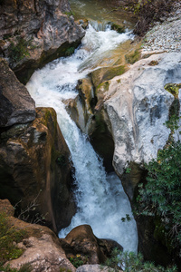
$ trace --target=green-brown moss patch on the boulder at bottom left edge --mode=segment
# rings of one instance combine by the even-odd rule
[[[0,213],[0,262],[20,257],[24,250],[17,248],[15,243],[21,242],[27,233],[24,229],[16,229],[8,222],[5,213]]]

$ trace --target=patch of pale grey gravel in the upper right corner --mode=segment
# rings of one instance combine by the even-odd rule
[[[176,5],[176,10],[163,23],[157,23],[146,34],[143,53],[150,51],[181,52],[181,4]]]

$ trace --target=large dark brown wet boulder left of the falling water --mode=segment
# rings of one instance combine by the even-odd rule
[[[67,227],[75,213],[72,168],[54,110],[37,108],[34,121],[14,125],[0,140],[0,198],[19,203],[23,218],[45,220],[54,231]]]

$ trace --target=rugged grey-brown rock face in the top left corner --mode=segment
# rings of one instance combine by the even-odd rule
[[[22,83],[43,63],[68,54],[83,35],[67,0],[0,1],[0,56]]]

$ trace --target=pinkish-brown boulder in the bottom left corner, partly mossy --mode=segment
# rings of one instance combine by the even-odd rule
[[[12,241],[13,247],[19,248],[20,250],[23,249],[22,256],[16,258],[15,255],[9,257],[8,254],[6,254],[7,260],[11,260],[5,263],[5,267],[10,265],[12,268],[19,269],[24,265],[29,265],[33,272],[60,272],[60,269],[62,269],[62,271],[74,272],[76,270],[66,258],[59,238],[55,236],[51,229],[15,219],[14,208],[7,199],[0,199],[0,214],[1,219],[4,219],[4,221],[1,221],[2,226],[4,226],[3,224],[6,222],[8,228],[14,231],[14,233],[18,233],[18,231],[21,231],[22,234],[24,233],[22,241]],[[11,235],[11,231],[9,235]],[[5,236],[3,236],[3,238],[5,238]],[[0,248],[0,254],[1,253],[4,253],[4,248]]]

